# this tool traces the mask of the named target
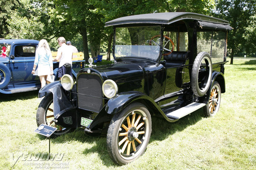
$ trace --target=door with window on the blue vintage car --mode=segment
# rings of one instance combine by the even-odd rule
[[[18,44],[14,46],[14,58],[10,59],[12,79],[15,85],[23,83],[40,82],[38,76],[31,74],[35,61],[35,48],[37,44]]]

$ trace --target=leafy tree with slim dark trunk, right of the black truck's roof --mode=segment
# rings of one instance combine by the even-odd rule
[[[248,19],[255,13],[256,0],[220,0],[216,6],[215,15],[228,20],[233,30],[228,36],[228,48],[231,51],[230,64],[233,64],[234,54],[244,49],[246,40],[243,36]]]

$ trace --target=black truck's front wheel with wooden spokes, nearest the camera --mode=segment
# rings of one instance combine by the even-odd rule
[[[129,123],[130,122],[130,123]],[[140,157],[151,135],[151,116],[145,105],[134,103],[113,116],[108,127],[107,148],[119,165]]]

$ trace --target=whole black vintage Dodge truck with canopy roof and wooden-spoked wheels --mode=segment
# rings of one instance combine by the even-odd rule
[[[58,127],[53,136],[78,127],[88,135],[106,134],[111,159],[122,165],[145,151],[151,116],[176,122],[200,108],[206,116],[218,112],[228,21],[170,12],[121,17],[105,26],[113,26],[115,63],[41,88],[38,126]]]

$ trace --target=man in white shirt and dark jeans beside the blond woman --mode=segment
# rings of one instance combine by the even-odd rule
[[[58,38],[58,44],[61,47],[58,48],[57,57],[52,61],[59,61],[59,68],[56,76],[61,79],[64,74],[69,74],[72,76],[73,48],[69,45],[66,45],[66,40],[64,37]]]

